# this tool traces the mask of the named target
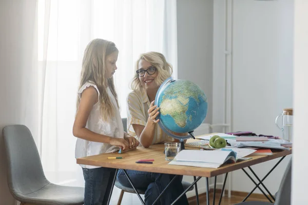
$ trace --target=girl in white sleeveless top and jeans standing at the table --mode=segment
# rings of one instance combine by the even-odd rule
[[[118,49],[114,43],[94,39],[86,47],[73,125],[75,157],[85,157],[139,142],[123,131],[113,74],[117,70]],[[85,205],[107,204],[115,169],[82,165],[85,179]]]

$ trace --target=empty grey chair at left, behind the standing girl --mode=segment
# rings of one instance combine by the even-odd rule
[[[84,188],[55,185],[44,174],[30,130],[10,125],[2,130],[7,156],[8,187],[21,204],[83,204]]]

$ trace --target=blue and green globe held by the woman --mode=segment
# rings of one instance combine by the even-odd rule
[[[207,97],[199,86],[189,80],[166,79],[157,91],[155,105],[160,108],[157,116],[161,129],[171,137],[194,137],[207,114]],[[178,135],[175,133],[189,133]]]

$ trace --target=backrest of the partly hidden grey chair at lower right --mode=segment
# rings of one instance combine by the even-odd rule
[[[275,205],[291,204],[292,158],[288,162],[278,189]]]

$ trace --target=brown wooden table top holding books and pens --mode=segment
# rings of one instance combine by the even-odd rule
[[[194,148],[187,148],[194,149]],[[188,176],[202,176],[212,177],[227,172],[239,170],[248,166],[257,165],[264,161],[269,161],[275,158],[292,154],[292,149],[285,151],[273,151],[273,155],[252,155],[252,159],[222,165],[220,168],[201,168],[201,167],[188,167],[178,165],[168,165],[165,160],[164,145],[157,144],[151,145],[149,148],[139,147],[136,150],[132,150],[123,154],[119,153],[104,153],[99,155],[93,155],[76,159],[77,163],[82,165],[91,165],[98,167],[108,167],[117,169],[129,169],[145,172],[156,172],[165,174],[177,174]],[[107,159],[107,157],[119,157],[124,159]],[[139,159],[155,159],[152,164],[136,163]]]

